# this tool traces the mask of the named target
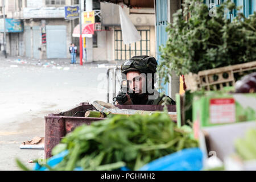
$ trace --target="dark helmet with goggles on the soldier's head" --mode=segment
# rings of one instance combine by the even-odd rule
[[[150,56],[133,56],[121,65],[122,73],[129,71],[139,71],[141,73],[155,73],[158,63],[155,57]]]

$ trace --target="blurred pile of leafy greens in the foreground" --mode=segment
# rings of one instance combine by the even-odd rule
[[[191,128],[177,129],[165,113],[115,115],[67,134],[52,154],[69,154],[55,170],[112,170],[126,166],[137,170],[162,156],[197,147]]]

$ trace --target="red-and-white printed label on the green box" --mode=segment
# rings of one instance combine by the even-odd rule
[[[210,100],[210,123],[236,122],[234,98],[213,98]]]

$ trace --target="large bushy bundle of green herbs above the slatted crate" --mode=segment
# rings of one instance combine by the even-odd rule
[[[229,0],[216,7],[216,16],[209,16],[203,0],[185,0],[182,6],[167,27],[166,46],[160,47],[160,77],[168,81],[171,70],[185,75],[256,60],[256,12],[246,19]],[[188,13],[191,18],[185,20]]]

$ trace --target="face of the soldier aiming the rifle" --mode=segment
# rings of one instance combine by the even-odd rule
[[[142,94],[146,93],[146,75],[139,71],[130,71],[126,73],[129,87],[133,93]]]

